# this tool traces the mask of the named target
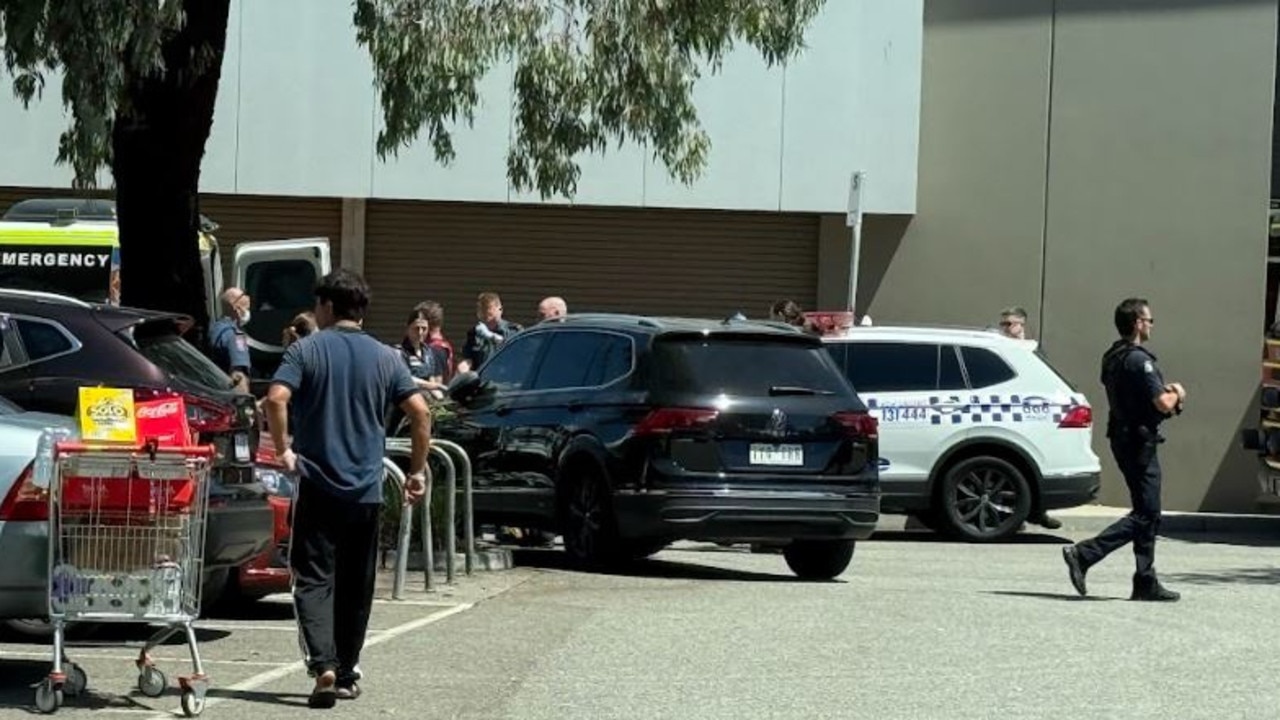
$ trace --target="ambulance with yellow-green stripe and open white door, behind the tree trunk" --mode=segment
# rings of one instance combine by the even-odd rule
[[[120,236],[115,201],[32,199],[0,217],[0,287],[67,295],[87,302],[120,301]],[[221,315],[223,254],[218,224],[200,217],[200,265],[210,319]],[[282,331],[315,305],[316,282],[332,269],[329,238],[241,242],[230,283],[252,301],[248,334],[253,375],[269,377],[284,352]]]

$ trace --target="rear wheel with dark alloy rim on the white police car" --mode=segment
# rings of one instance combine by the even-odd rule
[[[1032,488],[1018,468],[991,456],[956,462],[942,478],[942,518],[947,529],[970,542],[1015,534],[1032,511]]]

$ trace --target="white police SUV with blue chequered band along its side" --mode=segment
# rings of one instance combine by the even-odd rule
[[[823,341],[879,420],[882,512],[995,541],[1097,497],[1093,411],[1036,341],[936,327]]]

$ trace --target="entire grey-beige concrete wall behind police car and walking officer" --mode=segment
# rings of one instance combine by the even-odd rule
[[[1111,311],[1148,297],[1188,386],[1165,503],[1253,510],[1275,0],[929,0],[919,210],[868,232],[879,323],[984,324],[1021,304],[1106,410]],[[828,281],[831,284],[831,281]],[[1105,446],[1102,500],[1126,503]]]

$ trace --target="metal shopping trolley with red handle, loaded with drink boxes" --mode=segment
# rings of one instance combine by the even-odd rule
[[[88,684],[84,670],[67,660],[68,623],[147,623],[164,628],[138,653],[138,691],[164,694],[168,679],[151,650],[186,632],[193,673],[178,678],[182,710],[200,715],[209,678],[192,623],[200,616],[212,448],[49,445],[54,666],[36,687],[36,708],[55,712],[64,692],[74,697]]]

